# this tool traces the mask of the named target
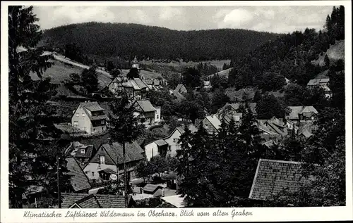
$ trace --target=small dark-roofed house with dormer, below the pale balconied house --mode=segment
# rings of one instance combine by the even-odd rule
[[[95,146],[93,145],[83,145],[78,141],[74,141],[66,148],[64,154],[76,158],[81,166],[85,166],[90,158],[95,155]]]

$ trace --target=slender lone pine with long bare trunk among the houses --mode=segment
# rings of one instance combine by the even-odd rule
[[[112,114],[110,123],[112,128],[109,130],[112,141],[116,141],[123,146],[124,162],[124,184],[125,184],[125,202],[128,199],[128,177],[126,171],[126,143],[132,143],[143,131],[143,125],[138,125],[138,117],[133,113],[135,109],[130,105],[125,94],[119,93],[119,97],[109,104]],[[116,160],[117,162],[117,160]]]

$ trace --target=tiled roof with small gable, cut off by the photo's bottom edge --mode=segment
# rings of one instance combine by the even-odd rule
[[[87,194],[87,193],[61,193],[62,208],[134,208],[135,201],[128,196],[128,205],[121,195]]]

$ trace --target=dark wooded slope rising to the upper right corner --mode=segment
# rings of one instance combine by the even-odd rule
[[[324,65],[317,65],[320,56],[340,49],[343,52],[335,54],[345,55],[342,47],[344,42],[339,44],[345,39],[345,8],[333,7],[323,27],[325,29],[319,32],[306,29],[304,32],[283,35],[233,61],[234,69],[229,73],[229,84],[236,89],[250,85],[271,91],[282,89],[286,77],[291,82],[305,86],[309,79],[337,62],[337,56],[331,59],[325,56]],[[335,50],[328,52],[332,46],[335,46]],[[338,63],[342,65],[341,62]]]

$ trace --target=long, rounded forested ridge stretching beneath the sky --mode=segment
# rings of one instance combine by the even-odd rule
[[[177,31],[126,23],[80,23],[44,30],[40,46],[77,44],[85,54],[184,60],[227,59],[261,46],[278,34],[251,30]]]

